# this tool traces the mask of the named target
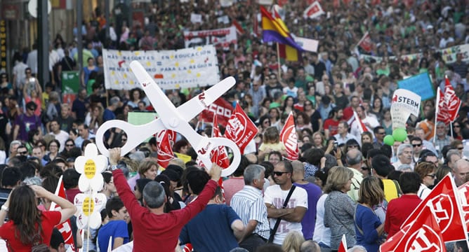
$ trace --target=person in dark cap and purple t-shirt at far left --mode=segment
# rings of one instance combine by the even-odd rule
[[[34,115],[36,109],[37,104],[28,102],[26,104],[26,113],[21,114],[15,119],[15,129],[13,130],[14,140],[27,141],[27,132],[29,132],[29,130],[39,130],[39,134],[42,135],[41,118]]]

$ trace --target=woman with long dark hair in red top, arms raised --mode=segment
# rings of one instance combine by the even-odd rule
[[[39,211],[37,197],[57,203],[60,211]],[[55,225],[67,221],[77,211],[68,200],[41,186],[18,186],[0,210],[0,237],[8,251],[32,251],[33,246],[51,242]],[[6,223],[5,217],[8,214]]]

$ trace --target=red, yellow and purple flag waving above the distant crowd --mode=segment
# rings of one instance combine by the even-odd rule
[[[276,11],[272,15],[263,6],[260,6],[260,13],[263,41],[279,43],[280,57],[289,61],[298,61],[300,58],[298,54],[303,51],[303,48],[295,42],[280,15]]]

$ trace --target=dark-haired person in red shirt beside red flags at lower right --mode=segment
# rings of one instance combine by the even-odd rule
[[[416,172],[404,172],[399,177],[399,186],[404,194],[388,204],[384,222],[384,231],[388,233],[388,237],[401,230],[402,223],[422,201],[417,195],[420,181],[420,176]]]

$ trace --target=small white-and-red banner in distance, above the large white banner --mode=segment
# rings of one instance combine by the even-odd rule
[[[223,50],[229,50],[231,43],[234,45],[238,43],[236,27],[234,26],[213,30],[184,31],[185,48],[215,45],[216,47],[223,47]]]

